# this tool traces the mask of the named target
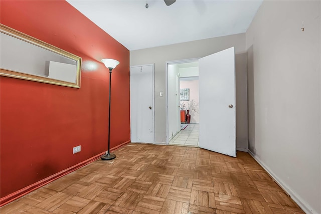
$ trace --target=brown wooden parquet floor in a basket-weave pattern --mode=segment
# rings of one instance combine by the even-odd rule
[[[0,213],[304,213],[246,152],[127,144]]]

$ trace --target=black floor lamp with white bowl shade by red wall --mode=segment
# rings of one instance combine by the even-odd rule
[[[110,151],[110,92],[111,92],[111,70],[116,68],[119,64],[117,60],[113,59],[102,59],[101,62],[105,64],[105,66],[109,69],[109,113],[108,113],[108,151],[104,154],[101,159],[102,160],[112,160],[116,157],[115,154],[111,154]]]

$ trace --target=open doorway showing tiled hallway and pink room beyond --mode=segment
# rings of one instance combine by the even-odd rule
[[[167,63],[167,144],[199,146],[198,59]],[[187,120],[189,111],[190,120]]]

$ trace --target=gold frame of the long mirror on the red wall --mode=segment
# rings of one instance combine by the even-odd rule
[[[31,37],[29,35],[26,35],[24,33],[21,33],[15,29],[12,29],[8,26],[5,26],[3,24],[0,24],[0,33],[3,33],[3,34],[6,34],[6,35],[9,35],[11,37],[14,37],[16,39],[19,39],[23,42],[27,42],[27,43],[30,43],[32,45],[35,45],[35,46],[38,46],[42,49],[45,49],[49,52],[53,52],[55,54],[58,54],[59,56],[56,56],[56,58],[61,58],[62,57],[66,57],[67,59],[66,60],[71,60],[73,61],[73,66],[76,67],[76,74],[75,74],[75,77],[76,77],[76,80],[75,82],[68,82],[68,81],[63,81],[63,80],[58,80],[58,79],[52,79],[52,78],[49,78],[47,76],[40,76],[40,75],[34,75],[34,74],[29,74],[29,73],[24,73],[22,71],[15,71],[15,70],[10,70],[10,69],[7,69],[7,68],[3,68],[2,67],[2,64],[0,64],[0,75],[1,76],[6,76],[6,77],[13,77],[13,78],[18,78],[18,79],[24,79],[24,80],[31,80],[31,81],[37,81],[37,82],[42,82],[42,83],[49,83],[49,84],[55,84],[55,85],[61,85],[61,86],[67,86],[67,87],[73,87],[73,88],[80,88],[80,76],[81,76],[81,58],[74,55],[74,54],[71,54],[67,51],[64,51],[60,48],[57,48],[53,45],[50,45],[48,43],[45,43],[41,40],[38,40],[34,37]],[[17,46],[16,46],[17,47]],[[15,49],[16,47],[10,47],[10,48],[13,48]],[[3,54],[3,53],[2,53]],[[30,54],[30,52],[27,52],[24,53],[24,55],[28,55]],[[48,54],[52,54],[52,53],[48,53]],[[48,61],[47,60],[43,60],[42,59],[42,56],[33,56],[35,59],[39,59],[39,62],[37,63],[47,63]],[[3,60],[3,59],[2,59]],[[17,58],[17,63],[20,62],[20,59]],[[41,62],[43,61],[43,62]],[[51,61],[50,61],[51,62]],[[56,63],[56,62],[54,62]],[[58,62],[59,63],[59,62]],[[61,63],[61,64],[66,64],[66,63]],[[74,74],[72,74],[74,75]]]

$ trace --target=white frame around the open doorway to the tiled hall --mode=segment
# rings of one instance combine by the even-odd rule
[[[174,61],[167,61],[166,62],[166,145],[169,145],[169,65],[173,64],[182,64],[182,63],[191,63],[198,61],[199,58],[192,58],[192,59],[185,59],[185,60],[174,60]],[[178,92],[179,93],[179,92]]]

